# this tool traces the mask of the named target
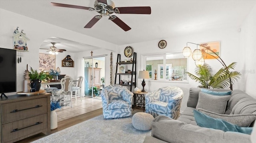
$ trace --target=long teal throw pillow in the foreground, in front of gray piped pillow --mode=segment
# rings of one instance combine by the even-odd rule
[[[220,129],[222,131],[235,131],[240,133],[245,133],[250,135],[252,133],[252,127],[239,127],[233,123],[224,121],[223,119],[212,118],[208,115],[205,115],[197,110],[193,110],[194,118],[196,123],[200,127],[207,127],[212,129]]]

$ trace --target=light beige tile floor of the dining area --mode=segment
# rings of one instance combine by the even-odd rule
[[[72,106],[72,108],[66,106],[56,110],[58,122],[100,109],[102,108],[102,101],[101,99],[89,97],[82,97],[81,101],[80,97],[78,97],[77,99],[72,98]]]

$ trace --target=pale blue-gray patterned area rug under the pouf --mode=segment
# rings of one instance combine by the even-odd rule
[[[103,115],[83,121],[32,143],[142,143],[150,131],[139,131],[132,116],[104,119]]]

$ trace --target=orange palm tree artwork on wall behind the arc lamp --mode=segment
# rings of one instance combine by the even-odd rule
[[[200,45],[204,45],[205,47],[208,47],[212,51],[214,51],[218,56],[220,56],[220,41],[217,42],[209,42],[209,43],[200,43]],[[218,59],[218,56],[216,56],[212,51],[200,46],[200,50],[203,53],[204,59]]]

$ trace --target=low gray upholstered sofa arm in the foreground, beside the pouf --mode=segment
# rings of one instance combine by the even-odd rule
[[[169,143],[250,143],[250,135],[191,125],[166,116],[152,121],[152,137]]]

